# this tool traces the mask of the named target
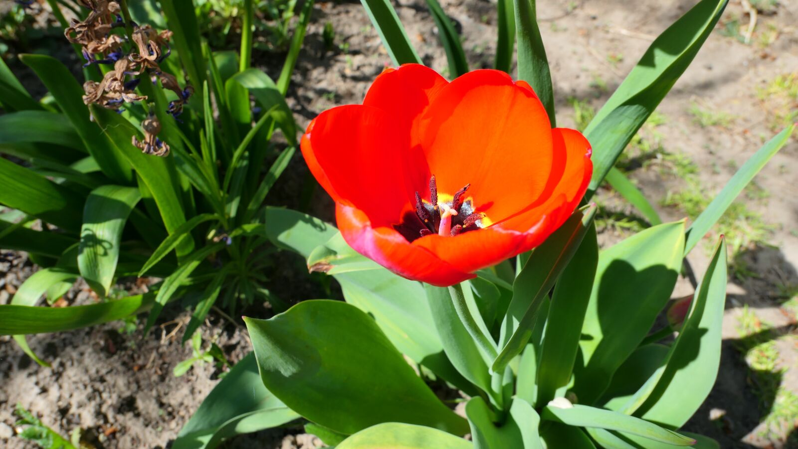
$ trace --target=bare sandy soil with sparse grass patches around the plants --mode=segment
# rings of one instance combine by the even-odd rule
[[[599,108],[634,66],[653,38],[693,2],[646,0],[620,2],[539,2],[539,18],[555,87],[560,126],[576,126],[573,101],[580,108]],[[496,36],[496,6],[482,0],[441,1],[456,21],[472,68],[492,64]],[[770,3],[758,2],[768,6]],[[397,12],[426,64],[446,71],[443,49],[425,2],[395,3]],[[690,215],[692,200],[711,199],[734,171],[798,107],[798,93],[772,89],[777,77],[798,76],[798,2],[785,0],[764,8],[749,44],[741,41],[749,17],[741,2],[727,8],[693,65],[658,108],[656,124],[646,124],[641,140],[630,148],[627,171],[658,208],[663,219]],[[336,49],[326,51],[322,29],[334,26]],[[737,26],[741,24],[741,26]],[[282,57],[257,54],[256,60],[277,77]],[[359,102],[373,78],[389,65],[377,33],[369,26],[359,2],[321,2],[306,37],[306,49],[292,78],[289,101],[304,126],[318,112],[338,104]],[[798,92],[798,81],[796,81]],[[794,120],[794,119],[793,119]],[[291,175],[275,189],[296,189],[306,168],[301,156]],[[696,174],[697,173],[697,174]],[[798,447],[788,436],[798,418],[795,304],[798,303],[798,140],[793,138],[760,175],[757,187],[741,196],[735,221],[739,247],[730,276],[724,317],[721,370],[705,406],[685,428],[713,436],[721,447]],[[663,206],[666,199],[670,206]],[[674,200],[675,198],[675,200]],[[330,202],[317,192],[314,213],[330,217]],[[612,191],[598,195],[606,216],[634,211]],[[617,242],[630,232],[625,226],[604,226],[602,244]],[[726,229],[713,230],[717,238]],[[700,278],[709,262],[709,238],[689,257]],[[18,256],[13,256],[18,264]],[[30,262],[28,265],[30,266]],[[2,268],[2,267],[0,267]],[[22,281],[18,270],[8,282]],[[20,271],[30,274],[29,269]],[[2,286],[0,286],[2,289]],[[6,287],[8,289],[8,287]],[[9,293],[12,293],[9,291]],[[693,293],[681,279],[674,297]],[[0,297],[2,302],[7,297]],[[301,298],[292,298],[301,299]],[[170,319],[185,320],[175,310]],[[247,352],[242,329],[221,317],[211,317],[203,329],[218,338],[231,361]],[[215,384],[216,370],[195,367],[175,378],[172,368],[190,356],[170,326],[143,338],[139,330],[120,333],[119,324],[72,333],[33,337],[30,345],[53,362],[40,368],[8,339],[0,345],[0,444],[31,447],[10,438],[14,404],[22,403],[53,428],[68,433],[89,429],[101,447],[165,447]],[[113,349],[112,349],[113,348]],[[262,432],[235,439],[229,447],[312,447],[296,442],[294,429]],[[287,435],[287,436],[286,436]],[[10,438],[10,439],[9,439]],[[294,441],[292,442],[292,439]],[[789,443],[788,443],[789,441]]]

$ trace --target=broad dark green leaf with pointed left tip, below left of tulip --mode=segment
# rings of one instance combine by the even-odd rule
[[[394,421],[468,431],[353,305],[303,301],[270,320],[245,322],[263,384],[315,423],[345,434]]]

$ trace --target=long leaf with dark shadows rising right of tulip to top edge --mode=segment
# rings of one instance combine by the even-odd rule
[[[642,124],[693,61],[729,0],[701,0],[657,37],[587,125],[593,146],[590,199]]]

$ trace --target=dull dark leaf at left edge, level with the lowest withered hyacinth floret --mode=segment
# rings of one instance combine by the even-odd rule
[[[0,116],[0,144],[39,142],[85,152],[81,137],[63,114],[45,111],[11,112]]]

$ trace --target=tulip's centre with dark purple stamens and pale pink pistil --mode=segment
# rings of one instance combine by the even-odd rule
[[[465,187],[454,195],[438,193],[435,175],[429,179],[429,201],[416,192],[415,214],[408,213],[402,223],[394,228],[410,242],[425,235],[455,236],[484,227],[484,214],[474,212],[470,198],[465,197]]]

